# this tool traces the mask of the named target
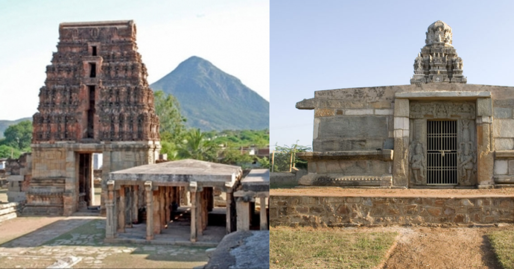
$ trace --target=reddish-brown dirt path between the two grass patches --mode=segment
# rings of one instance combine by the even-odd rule
[[[382,268],[498,268],[487,235],[503,227],[386,227],[398,230],[396,247]]]

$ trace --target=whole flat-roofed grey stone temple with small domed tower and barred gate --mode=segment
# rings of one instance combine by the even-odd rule
[[[307,186],[488,188],[514,183],[514,87],[466,84],[437,21],[410,85],[317,91]]]

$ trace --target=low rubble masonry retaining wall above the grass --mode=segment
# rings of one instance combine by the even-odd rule
[[[383,198],[274,196],[270,224],[342,227],[348,224],[512,223],[514,197]]]

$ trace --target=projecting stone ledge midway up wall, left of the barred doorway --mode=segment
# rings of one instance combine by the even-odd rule
[[[326,151],[326,152],[299,152],[297,157],[311,160],[354,160],[354,159],[379,159],[393,160],[393,150],[362,150],[362,151]]]

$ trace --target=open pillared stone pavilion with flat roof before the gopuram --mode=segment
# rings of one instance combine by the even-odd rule
[[[106,241],[191,241],[216,246],[236,230],[233,194],[242,175],[238,166],[192,159],[113,172],[107,181]],[[214,206],[214,187],[227,194],[226,207]],[[186,193],[190,195],[190,205],[181,202]]]

